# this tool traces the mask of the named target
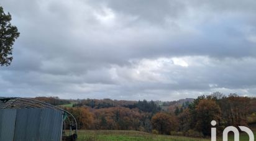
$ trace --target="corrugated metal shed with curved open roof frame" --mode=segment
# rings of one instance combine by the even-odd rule
[[[76,140],[76,127],[75,117],[60,107],[34,99],[0,97],[0,141]]]

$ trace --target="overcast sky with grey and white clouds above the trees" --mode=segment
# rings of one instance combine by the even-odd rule
[[[254,0],[1,0],[21,36],[0,96],[256,94]]]

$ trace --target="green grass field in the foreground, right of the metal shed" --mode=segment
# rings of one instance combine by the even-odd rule
[[[192,137],[180,137],[171,135],[154,135],[134,130],[79,130],[78,141],[117,141],[117,140],[147,140],[147,141],[211,141],[211,139],[199,139]],[[221,141],[222,137],[218,139]],[[233,141],[234,136],[230,135],[229,141]],[[240,134],[240,141],[247,141],[247,134]]]

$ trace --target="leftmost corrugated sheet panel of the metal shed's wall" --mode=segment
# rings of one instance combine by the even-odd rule
[[[16,109],[0,109],[0,140],[13,140],[16,112]]]

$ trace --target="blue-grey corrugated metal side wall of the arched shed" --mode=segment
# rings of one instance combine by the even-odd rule
[[[63,112],[53,109],[0,109],[0,140],[58,141]]]

